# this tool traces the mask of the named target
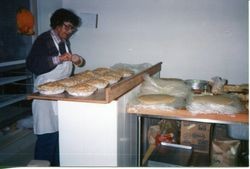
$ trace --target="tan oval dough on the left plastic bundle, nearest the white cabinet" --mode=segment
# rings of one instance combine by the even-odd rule
[[[148,94],[139,96],[138,100],[143,104],[170,104],[175,101],[175,97],[166,94]]]

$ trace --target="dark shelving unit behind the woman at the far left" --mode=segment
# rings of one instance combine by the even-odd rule
[[[0,128],[31,113],[26,97],[32,86],[25,60],[0,63]]]

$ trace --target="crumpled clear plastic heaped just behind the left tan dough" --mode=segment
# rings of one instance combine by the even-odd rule
[[[186,98],[191,93],[191,87],[182,80],[167,80],[144,75],[144,82],[140,94],[168,94],[175,97]]]

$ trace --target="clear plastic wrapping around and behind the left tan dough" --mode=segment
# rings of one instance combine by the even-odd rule
[[[185,108],[186,97],[191,93],[191,88],[180,79],[160,79],[144,75],[144,82],[140,86],[140,92],[137,97],[130,101],[129,105],[133,109],[149,108],[173,111]],[[140,96],[145,95],[169,95],[174,97],[174,101],[165,103],[145,104],[139,100]]]

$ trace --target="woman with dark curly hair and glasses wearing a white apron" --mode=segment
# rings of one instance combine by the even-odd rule
[[[51,30],[35,40],[26,59],[27,68],[35,74],[35,92],[38,85],[69,77],[74,65],[85,64],[81,56],[71,53],[69,42],[80,21],[72,11],[58,9],[50,18]],[[35,159],[48,160],[51,166],[59,166],[57,102],[34,100],[32,113],[37,135]]]

